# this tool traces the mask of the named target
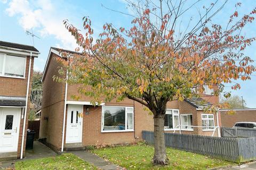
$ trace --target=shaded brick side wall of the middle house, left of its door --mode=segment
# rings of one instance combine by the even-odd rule
[[[52,57],[57,57],[53,54]],[[39,138],[47,138],[47,142],[57,148],[61,147],[63,111],[65,100],[65,83],[53,81],[58,73],[59,63],[52,58],[43,82],[43,100]]]

